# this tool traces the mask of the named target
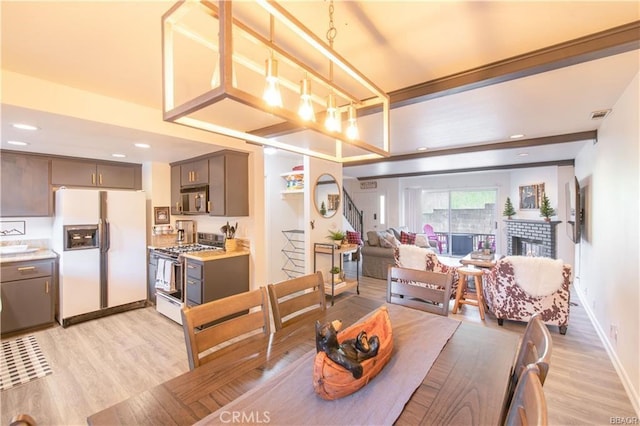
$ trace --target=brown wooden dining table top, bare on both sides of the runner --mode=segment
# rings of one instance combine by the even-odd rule
[[[314,349],[316,320],[340,319],[348,326],[381,305],[381,301],[348,296],[324,312],[302,315],[268,337],[238,343],[215,361],[95,413],[87,422],[191,425]],[[511,333],[462,322],[395,424],[498,424],[517,343],[518,337]]]

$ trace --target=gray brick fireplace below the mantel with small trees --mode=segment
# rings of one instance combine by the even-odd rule
[[[505,220],[507,224],[507,255],[556,258],[556,226],[560,221]]]

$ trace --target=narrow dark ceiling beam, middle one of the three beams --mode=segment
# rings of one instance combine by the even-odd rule
[[[466,146],[459,146],[455,148],[434,149],[430,151],[415,152],[411,154],[392,155],[391,157],[385,158],[383,161],[380,161],[380,160],[353,161],[349,163],[343,163],[342,167],[365,166],[368,164],[375,164],[380,162],[386,163],[386,162],[392,162],[392,161],[417,160],[420,158],[440,157],[443,155],[468,154],[470,152],[530,148],[534,146],[555,145],[559,143],[579,142],[579,141],[588,141],[588,140],[597,141],[598,131],[588,130],[585,132],[567,133],[564,135],[545,136],[540,138],[519,139],[519,140],[507,141],[507,142],[492,142],[492,143],[486,143],[486,144],[480,144],[480,145],[466,145]]]

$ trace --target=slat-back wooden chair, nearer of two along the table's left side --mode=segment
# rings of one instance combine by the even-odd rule
[[[221,349],[252,335],[268,336],[271,333],[268,299],[266,288],[260,287],[258,290],[182,308],[189,369],[212,361]]]

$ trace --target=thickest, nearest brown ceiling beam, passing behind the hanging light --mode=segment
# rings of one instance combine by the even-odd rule
[[[636,49],[640,49],[640,21],[392,91],[389,93],[390,108],[399,108]],[[375,112],[375,108],[358,110],[359,115]],[[300,130],[300,126],[295,123],[284,122],[249,133],[277,137]],[[382,161],[386,160],[388,158]]]

